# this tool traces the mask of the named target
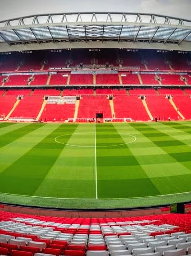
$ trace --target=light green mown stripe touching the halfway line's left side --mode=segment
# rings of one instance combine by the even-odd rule
[[[62,134],[65,133],[60,133],[59,142],[67,145],[63,145],[59,157],[34,195],[95,199],[94,125],[79,124],[67,141]],[[73,147],[68,144],[92,147]]]

